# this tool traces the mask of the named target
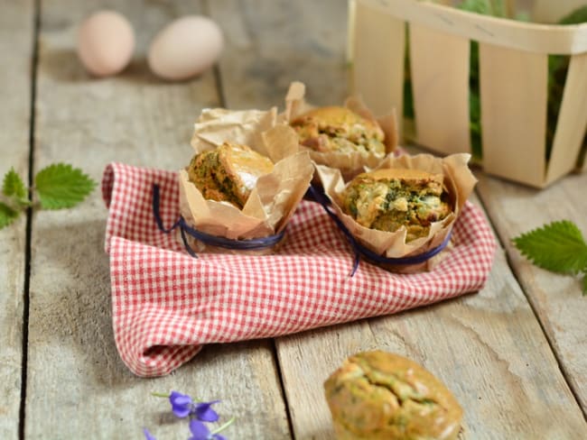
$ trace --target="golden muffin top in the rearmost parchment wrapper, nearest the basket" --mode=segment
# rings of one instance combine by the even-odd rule
[[[381,157],[386,152],[381,127],[346,107],[319,107],[297,116],[290,124],[300,143],[314,151],[374,153]]]

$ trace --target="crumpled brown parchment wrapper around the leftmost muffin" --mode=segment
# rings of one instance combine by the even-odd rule
[[[293,129],[278,123],[276,116],[275,108],[269,111],[221,108],[202,111],[191,138],[196,154],[231,142],[247,145],[268,157],[274,167],[256,179],[242,209],[227,201],[206,199],[190,181],[187,169],[180,170],[180,211],[188,225],[200,232],[232,240],[262,238],[284,230],[310,185],[314,168],[308,153],[299,151]],[[195,252],[275,252],[275,246],[231,250],[202,243],[191,236],[188,242]]]

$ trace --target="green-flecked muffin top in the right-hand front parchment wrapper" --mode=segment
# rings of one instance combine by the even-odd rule
[[[406,242],[426,236],[433,222],[452,212],[442,174],[407,169],[359,174],[340,194],[340,207],[371,229],[395,232],[405,226]]]

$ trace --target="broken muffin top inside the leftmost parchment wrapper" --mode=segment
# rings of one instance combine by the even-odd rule
[[[238,208],[247,202],[256,180],[273,170],[273,162],[247,145],[224,142],[196,154],[188,167],[190,181],[204,198]]]

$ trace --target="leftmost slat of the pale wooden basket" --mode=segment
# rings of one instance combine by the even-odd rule
[[[361,3],[354,14],[353,93],[375,115],[389,114],[394,103],[402,115],[405,22]]]

